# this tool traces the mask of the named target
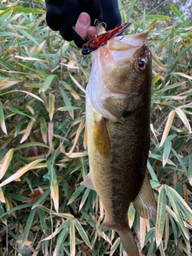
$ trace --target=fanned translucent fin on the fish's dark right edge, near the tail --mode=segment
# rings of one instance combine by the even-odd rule
[[[154,200],[154,192],[147,174],[145,174],[141,190],[133,203],[135,210],[142,218],[156,218],[157,203]]]

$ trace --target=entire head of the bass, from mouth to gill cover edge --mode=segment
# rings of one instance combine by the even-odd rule
[[[112,122],[123,120],[123,111],[150,106],[152,64],[147,36],[147,31],[118,36],[94,52],[87,94],[95,110]]]

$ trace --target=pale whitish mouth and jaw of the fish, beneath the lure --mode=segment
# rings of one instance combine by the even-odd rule
[[[108,43],[108,50],[113,52],[114,60],[130,58],[138,48],[147,43],[148,31],[144,30],[139,34],[118,36]]]

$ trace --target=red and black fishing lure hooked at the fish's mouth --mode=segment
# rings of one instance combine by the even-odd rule
[[[96,20],[96,22],[98,21]],[[95,38],[90,39],[90,41],[84,43],[84,45],[82,46],[82,54],[88,55],[92,51],[97,50],[99,47],[105,46],[107,42],[110,42],[110,40],[122,34],[122,32],[125,31],[126,28],[128,28],[130,25],[131,22],[128,21],[121,26],[117,26],[116,28],[114,28],[114,30],[106,31],[103,34],[99,34]]]

